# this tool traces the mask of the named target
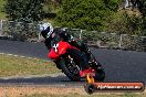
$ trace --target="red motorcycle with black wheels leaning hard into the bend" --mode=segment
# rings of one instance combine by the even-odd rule
[[[92,57],[95,60],[93,54]],[[81,65],[85,63],[86,55],[84,52],[80,51],[75,46],[64,41],[59,41],[53,44],[51,52],[48,57],[58,62],[56,65],[71,80],[80,80]],[[96,65],[100,64],[96,61],[94,63],[88,63],[88,66],[94,69],[96,80],[104,80],[105,72],[101,66],[101,71],[96,69]]]

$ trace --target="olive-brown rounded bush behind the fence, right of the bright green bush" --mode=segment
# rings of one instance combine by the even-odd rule
[[[129,14],[125,11],[117,11],[106,20],[106,32],[117,34],[142,34],[143,20],[140,17]]]

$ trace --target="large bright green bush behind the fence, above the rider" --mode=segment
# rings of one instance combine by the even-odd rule
[[[107,15],[118,9],[118,0],[63,0],[56,24],[86,30],[104,30]]]

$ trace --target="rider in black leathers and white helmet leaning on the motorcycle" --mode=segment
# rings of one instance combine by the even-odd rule
[[[87,62],[82,66],[82,71],[80,72],[80,76],[84,77],[87,73],[92,73],[93,69],[91,69],[88,65],[88,61],[91,61],[91,53],[88,52],[88,48],[85,43],[83,43],[81,40],[75,41],[67,31],[55,28],[53,29],[51,23],[42,23],[40,24],[40,31],[41,35],[44,37],[44,44],[50,50],[54,43],[58,43],[60,40],[69,42],[71,45],[77,47],[82,52],[84,52],[87,56]],[[55,37],[55,39],[54,39]],[[54,62],[56,64],[56,67],[60,68],[60,65],[58,65],[58,62]]]

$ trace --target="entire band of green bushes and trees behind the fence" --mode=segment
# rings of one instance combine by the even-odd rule
[[[0,0],[0,18],[55,26],[146,35],[146,1],[121,9],[123,0]],[[3,4],[6,3],[6,8]],[[6,10],[6,12],[3,12]],[[138,15],[137,15],[138,14]],[[54,19],[55,18],[55,19]],[[55,23],[54,23],[55,22]]]

